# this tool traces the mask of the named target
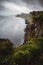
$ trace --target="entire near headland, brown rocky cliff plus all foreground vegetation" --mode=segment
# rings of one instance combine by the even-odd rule
[[[0,39],[0,65],[43,65],[43,12],[31,14],[24,45],[14,47],[10,40]]]

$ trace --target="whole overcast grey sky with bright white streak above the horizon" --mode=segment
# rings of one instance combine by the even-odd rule
[[[0,15],[28,13],[31,10],[43,10],[43,0],[0,0]]]

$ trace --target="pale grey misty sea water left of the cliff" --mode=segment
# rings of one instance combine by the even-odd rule
[[[16,16],[0,16],[0,38],[10,39],[15,46],[23,44],[25,20]]]

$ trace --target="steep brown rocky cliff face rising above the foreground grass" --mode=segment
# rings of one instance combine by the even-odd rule
[[[29,42],[31,38],[43,37],[43,11],[33,11],[31,21],[25,20],[27,24],[25,28],[24,43]]]

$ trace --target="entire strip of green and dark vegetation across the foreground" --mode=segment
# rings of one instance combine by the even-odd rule
[[[0,42],[1,65],[43,65],[43,37],[32,38],[17,48],[8,40]]]

